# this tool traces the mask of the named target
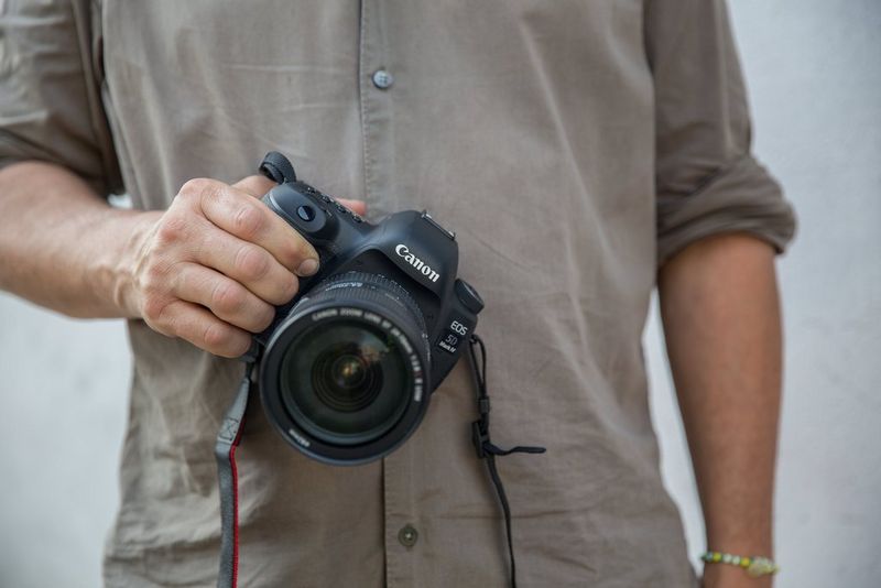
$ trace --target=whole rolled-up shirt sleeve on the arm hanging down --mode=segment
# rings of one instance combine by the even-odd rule
[[[649,0],[645,42],[655,87],[659,265],[721,232],[747,232],[783,251],[795,216],[750,152],[725,1]]]

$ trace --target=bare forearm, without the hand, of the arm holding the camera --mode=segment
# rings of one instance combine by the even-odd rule
[[[0,288],[70,316],[134,316],[119,287],[124,252],[156,213],[111,208],[40,162],[0,170]]]

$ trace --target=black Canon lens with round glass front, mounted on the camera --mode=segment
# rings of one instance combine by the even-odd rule
[[[334,465],[372,461],[427,409],[425,320],[392,280],[331,276],[275,329],[259,378],[269,421],[295,448]]]

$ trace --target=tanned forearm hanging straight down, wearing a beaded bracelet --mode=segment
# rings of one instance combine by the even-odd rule
[[[662,268],[661,311],[709,548],[772,555],[781,328],[770,246],[729,235]],[[713,569],[710,569],[713,568]],[[728,569],[724,569],[728,568]],[[708,576],[741,582],[731,566]],[[770,578],[750,585],[770,586]]]

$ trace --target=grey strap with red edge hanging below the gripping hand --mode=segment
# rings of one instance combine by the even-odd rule
[[[251,392],[253,361],[244,364],[244,375],[232,403],[227,409],[214,455],[217,460],[217,480],[220,486],[220,570],[217,588],[236,588],[239,567],[239,500],[236,475],[236,447],[241,437],[241,424]]]

